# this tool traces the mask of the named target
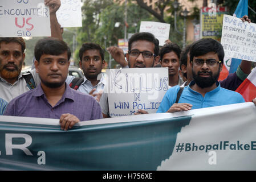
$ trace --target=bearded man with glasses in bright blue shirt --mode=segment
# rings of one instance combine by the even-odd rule
[[[193,81],[186,86],[176,103],[180,86],[170,88],[157,113],[187,111],[245,102],[241,94],[221,88],[218,77],[223,67],[224,49],[213,39],[200,39],[190,48]]]

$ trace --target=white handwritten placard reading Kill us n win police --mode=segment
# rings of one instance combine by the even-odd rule
[[[168,68],[107,69],[109,115],[133,115],[138,109],[156,113],[166,90]]]

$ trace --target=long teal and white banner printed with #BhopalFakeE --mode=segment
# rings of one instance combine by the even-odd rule
[[[0,116],[0,170],[255,170],[252,102],[80,122]]]

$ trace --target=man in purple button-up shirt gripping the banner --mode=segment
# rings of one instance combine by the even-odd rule
[[[68,130],[79,121],[102,118],[94,97],[71,89],[65,82],[70,65],[70,48],[59,39],[39,40],[35,46],[35,70],[40,84],[15,97],[4,115],[60,119]]]

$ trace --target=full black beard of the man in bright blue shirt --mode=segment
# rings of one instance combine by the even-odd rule
[[[201,73],[208,73],[210,75],[210,77],[201,77],[201,76],[199,76]],[[196,74],[196,72],[194,72],[193,67],[192,67],[192,75],[193,75],[194,81],[200,88],[202,88],[202,89],[208,88],[218,81],[218,78],[220,76],[220,67],[218,69],[218,72],[214,75],[213,75],[213,72],[211,72],[211,71],[209,71],[209,72],[198,71]]]

